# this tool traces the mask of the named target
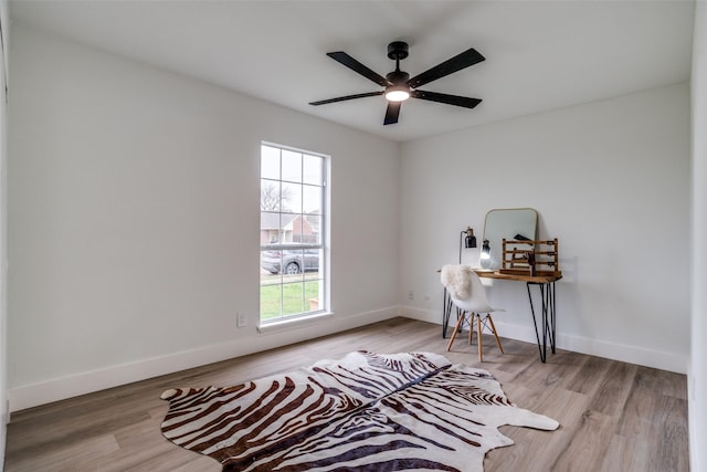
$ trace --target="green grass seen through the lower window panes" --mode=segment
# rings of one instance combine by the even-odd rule
[[[307,283],[261,285],[261,319],[274,319],[281,316],[309,312],[309,298],[318,298],[318,296],[319,281],[316,280]]]

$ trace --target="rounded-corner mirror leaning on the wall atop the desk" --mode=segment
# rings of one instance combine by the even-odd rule
[[[494,209],[486,213],[479,265],[498,270],[504,239],[537,239],[538,212],[532,208]]]

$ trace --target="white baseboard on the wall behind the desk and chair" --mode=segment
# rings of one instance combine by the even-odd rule
[[[439,311],[421,310],[411,306],[401,306],[400,316],[442,325]],[[536,344],[536,334],[532,326],[521,326],[496,321],[494,323],[503,337]],[[657,349],[646,349],[639,346],[610,343],[582,336],[557,334],[557,347],[590,356],[603,357],[623,363],[669,370],[677,374],[687,374],[688,356]],[[549,352],[549,347],[548,347]],[[551,354],[548,354],[550,356]]]

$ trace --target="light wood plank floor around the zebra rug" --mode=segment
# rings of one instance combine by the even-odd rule
[[[220,471],[210,458],[160,433],[171,387],[228,386],[358,349],[424,350],[489,370],[516,405],[560,422],[557,431],[502,427],[516,444],[490,451],[485,471],[688,471],[683,375],[558,350],[540,363],[534,344],[457,338],[446,353],[439,325],[394,318],[346,333],[162,376],[12,415],[6,471]]]

